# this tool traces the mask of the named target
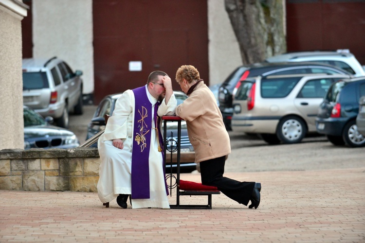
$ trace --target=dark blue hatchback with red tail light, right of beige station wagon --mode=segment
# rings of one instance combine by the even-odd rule
[[[359,99],[365,95],[365,77],[344,79],[333,83],[318,109],[316,130],[335,145],[365,146],[365,137],[359,133],[356,117]]]

